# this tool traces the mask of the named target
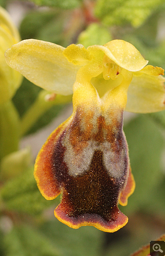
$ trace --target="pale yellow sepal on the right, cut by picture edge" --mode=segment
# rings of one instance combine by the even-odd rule
[[[151,113],[165,109],[165,78],[142,74],[134,76],[128,88],[125,110],[135,113]]]

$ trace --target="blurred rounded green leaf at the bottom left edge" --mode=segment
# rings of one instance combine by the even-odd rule
[[[6,256],[59,256],[53,243],[38,230],[21,225],[14,227],[4,238]]]

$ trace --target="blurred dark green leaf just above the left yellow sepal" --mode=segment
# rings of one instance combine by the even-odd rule
[[[70,10],[50,9],[32,11],[23,19],[20,26],[22,39],[40,39],[66,47],[71,44],[77,30],[82,29],[82,19]],[[67,29],[66,24],[71,27]]]

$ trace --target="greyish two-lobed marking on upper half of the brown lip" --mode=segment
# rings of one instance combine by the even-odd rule
[[[78,116],[78,119],[76,118]],[[128,165],[128,159],[127,156],[127,146],[126,141],[123,133],[123,115],[120,113],[120,122],[118,122],[118,127],[114,126],[113,128],[113,135],[114,131],[116,134],[120,134],[118,136],[120,138],[120,143],[116,139],[117,136],[114,137],[113,146],[110,142],[107,141],[107,130],[105,128],[101,127],[103,124],[99,123],[96,119],[96,112],[94,121],[92,123],[92,119],[88,120],[88,123],[85,120],[84,115],[75,116],[75,120],[72,121],[72,124],[68,127],[66,131],[65,138],[62,140],[63,146],[65,146],[66,150],[64,153],[64,161],[67,164],[68,167],[68,174],[73,177],[81,176],[85,172],[90,170],[90,165],[92,158],[94,156],[95,151],[102,151],[103,152],[103,164],[104,167],[107,169],[107,173],[114,178],[120,178],[124,174],[124,169],[126,168],[126,165]],[[99,117],[101,115],[99,114]],[[106,116],[107,117],[107,116]],[[118,117],[118,118],[117,118]],[[116,118],[119,121],[119,116]],[[104,117],[101,117],[102,119]],[[107,118],[106,118],[107,119]],[[109,120],[107,120],[108,123]],[[87,131],[87,125],[93,124],[93,127],[91,129],[91,136],[90,140],[85,140],[85,132]],[[83,124],[83,127],[82,127]],[[73,132],[73,129],[79,128],[79,136],[77,137],[76,146],[73,146],[70,133]],[[96,133],[103,134],[102,141],[99,141],[95,139]],[[115,135],[116,135],[115,134]],[[85,141],[85,146],[83,145],[83,142]],[[77,150],[77,148],[79,150]]]

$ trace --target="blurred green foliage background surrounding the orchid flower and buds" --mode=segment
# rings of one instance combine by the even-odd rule
[[[17,24],[22,39],[64,47],[124,39],[150,65],[165,68],[164,0],[0,0],[0,5],[14,13],[13,20],[20,17]],[[20,118],[35,104],[40,91],[23,80],[12,99]],[[71,103],[46,106],[22,138],[28,144],[28,136],[37,136],[69,109]],[[59,197],[44,199],[34,180],[35,156],[26,148],[16,162],[11,147],[0,166],[0,256],[129,256],[160,237],[165,232],[165,111],[126,113],[124,132],[136,188],[128,205],[119,206],[129,222],[115,233],[94,227],[73,230],[59,222],[53,213]]]

